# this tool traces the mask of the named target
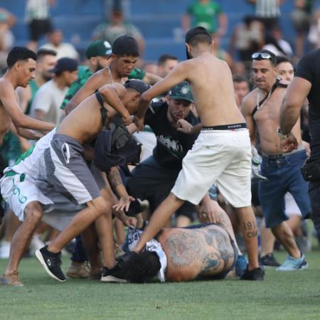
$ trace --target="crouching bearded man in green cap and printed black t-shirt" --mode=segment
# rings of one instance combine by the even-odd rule
[[[192,107],[190,86],[183,81],[172,88],[166,101],[152,102],[146,112],[144,124],[148,124],[156,135],[156,146],[153,154],[132,171],[127,188],[134,198],[148,200],[151,212],[170,193],[181,170],[182,159],[198,137],[198,134],[178,131],[179,119],[186,119],[191,126],[199,123]],[[186,202],[177,210],[177,215],[193,220],[194,211],[194,206]]]

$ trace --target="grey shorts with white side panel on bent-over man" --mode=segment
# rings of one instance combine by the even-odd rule
[[[84,159],[84,149],[75,139],[55,134],[44,151],[49,185],[75,204],[100,197],[100,188]],[[50,190],[43,190],[50,194]]]

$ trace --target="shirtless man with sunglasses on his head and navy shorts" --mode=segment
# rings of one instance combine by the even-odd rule
[[[242,114],[255,143],[255,127],[260,137],[262,150],[261,174],[267,181],[260,181],[259,198],[265,215],[265,225],[289,253],[287,260],[277,268],[279,271],[303,269],[307,266],[302,252],[297,247],[292,230],[287,225],[289,218],[284,212],[284,195],[289,192],[299,206],[302,216],[311,213],[307,183],[302,178],[300,167],[306,159],[302,144],[300,121],[292,132],[298,139],[298,149],[283,153],[277,137],[279,112],[287,88],[287,82],[277,80],[276,58],[268,50],[252,55],[252,78],[257,85],[242,103]]]

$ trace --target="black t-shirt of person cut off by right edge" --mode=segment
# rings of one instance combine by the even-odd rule
[[[308,95],[308,122],[311,142],[320,139],[320,49],[306,53],[297,65],[295,77],[304,78],[311,83]]]

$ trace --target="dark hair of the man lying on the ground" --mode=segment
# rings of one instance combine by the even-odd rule
[[[126,279],[133,283],[144,283],[151,281],[158,274],[161,263],[156,252],[144,251],[134,255],[127,262]]]

